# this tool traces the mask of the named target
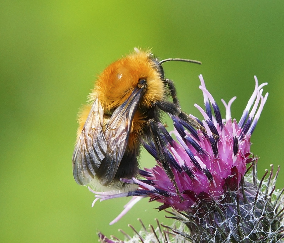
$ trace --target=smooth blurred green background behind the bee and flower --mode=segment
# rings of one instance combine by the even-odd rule
[[[200,117],[198,75],[220,101],[237,96],[239,120],[256,75],[269,98],[252,136],[262,174],[283,165],[284,2],[281,1],[1,1],[1,242],[97,242],[127,224],[169,222],[158,204],[142,200],[117,224],[108,223],[126,198],[91,203],[76,184],[71,157],[76,116],[96,75],[133,47],[160,58],[198,59],[203,65],[165,63],[183,110]],[[142,166],[154,161],[143,153]],[[284,170],[278,187],[283,187]]]

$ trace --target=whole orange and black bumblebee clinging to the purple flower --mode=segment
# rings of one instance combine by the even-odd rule
[[[161,146],[161,113],[178,116],[196,128],[200,124],[180,109],[174,84],[164,77],[162,63],[166,61],[201,64],[188,59],[159,61],[149,50],[135,48],[98,76],[88,97],[90,105],[83,107],[78,119],[72,159],[78,184],[124,189],[121,178],[139,174],[142,141],[155,144],[159,161],[173,178]]]

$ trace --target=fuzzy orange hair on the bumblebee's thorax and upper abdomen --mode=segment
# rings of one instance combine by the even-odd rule
[[[151,62],[151,52],[135,49],[130,55],[118,59],[104,69],[98,76],[95,87],[88,96],[88,101],[92,104],[98,97],[105,112],[114,110],[128,99],[141,78],[147,80],[147,89],[140,103],[141,106],[149,108],[153,102],[165,99],[166,90],[159,73]],[[79,114],[78,137],[90,110],[91,105],[84,106]],[[136,133],[136,136],[143,133],[142,127],[145,126],[143,118],[143,114],[137,111],[132,121],[132,132]],[[137,126],[139,123],[142,126]]]

